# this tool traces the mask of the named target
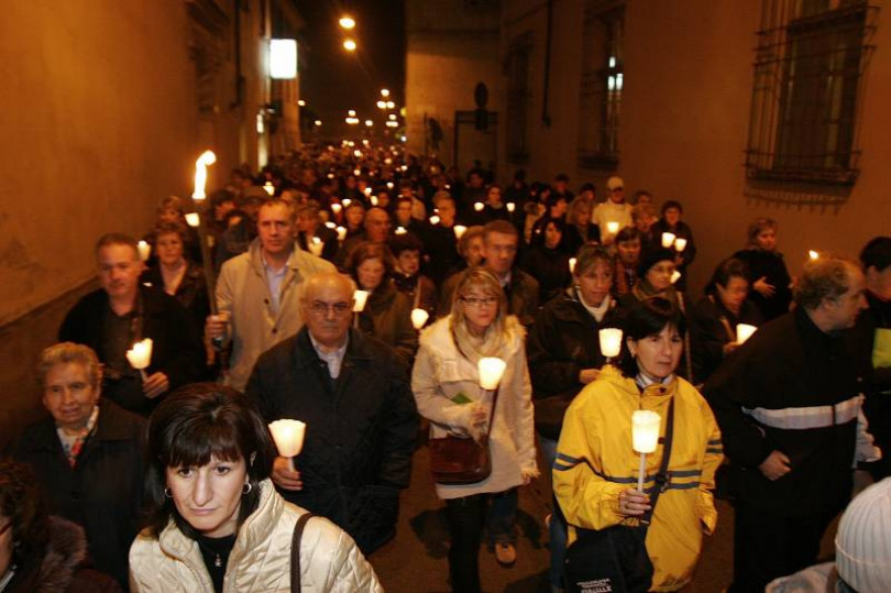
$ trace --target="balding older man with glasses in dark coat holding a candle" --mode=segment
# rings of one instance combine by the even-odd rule
[[[267,422],[307,424],[302,452],[278,458],[273,482],[288,501],[341,526],[365,554],[396,532],[418,414],[408,370],[383,342],[350,329],[353,283],[311,276],[306,326],[257,360],[248,395]]]

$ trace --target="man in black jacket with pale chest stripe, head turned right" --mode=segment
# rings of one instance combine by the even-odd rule
[[[844,339],[866,306],[862,273],[840,257],[809,262],[795,301],[704,389],[737,487],[730,591],[763,591],[813,564],[850,499],[855,451],[877,457],[858,420],[866,369]]]

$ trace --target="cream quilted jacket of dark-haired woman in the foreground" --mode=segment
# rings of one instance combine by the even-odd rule
[[[305,509],[286,503],[270,480],[261,483],[260,506],[239,529],[229,556],[223,592],[290,592],[290,541]],[[306,524],[300,540],[304,593],[383,592],[374,569],[340,527],[322,517]],[[130,547],[130,590],[212,592],[198,543],[173,520],[155,539],[140,534]]]

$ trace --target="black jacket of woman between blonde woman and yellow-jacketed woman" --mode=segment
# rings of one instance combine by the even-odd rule
[[[532,380],[536,430],[552,440],[560,437],[563,415],[584,384],[583,369],[600,369],[606,360],[601,353],[598,331],[616,327],[622,305],[613,306],[602,322],[587,312],[574,288],[553,298],[539,311],[526,341],[526,356]]]

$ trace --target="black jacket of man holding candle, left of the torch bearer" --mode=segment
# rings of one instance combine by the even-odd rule
[[[132,341],[151,338],[154,342],[152,363],[145,373],[167,375],[170,382],[168,393],[197,381],[205,365],[205,349],[186,309],[174,297],[155,288],[140,287],[140,301]],[[108,356],[102,351],[102,322],[108,310],[108,294],[103,289],[88,294],[65,316],[58,330],[59,341],[86,344],[96,351],[102,363],[107,363]],[[142,380],[132,369],[106,367],[102,395],[144,416],[158,402],[158,398],[153,400],[142,396]]]

